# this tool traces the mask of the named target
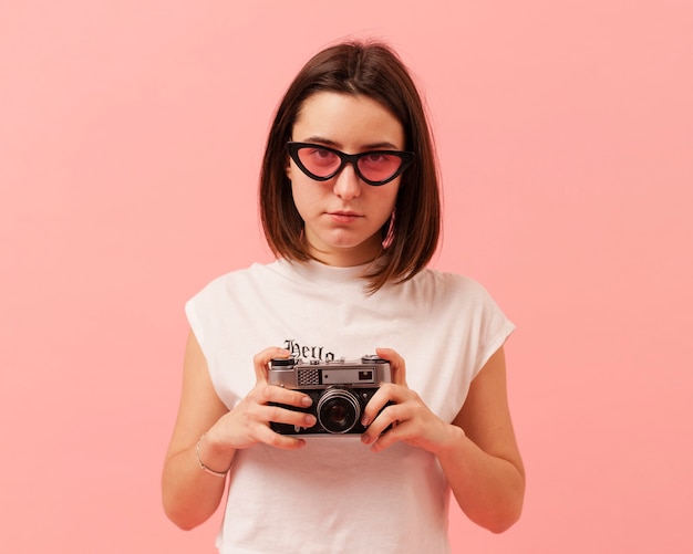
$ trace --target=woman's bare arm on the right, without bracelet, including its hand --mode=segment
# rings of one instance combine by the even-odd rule
[[[406,387],[402,357],[387,349],[377,353],[390,360],[394,384],[381,387],[366,407],[366,424],[375,420],[363,442],[376,452],[404,441],[435,453],[465,514],[493,532],[507,530],[521,513],[525,470],[508,409],[503,348],[473,380],[453,424],[442,421]],[[395,405],[375,417],[387,400]],[[393,421],[396,427],[381,435]]]

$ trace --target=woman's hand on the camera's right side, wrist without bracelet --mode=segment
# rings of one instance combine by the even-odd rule
[[[390,348],[377,348],[375,352],[390,362],[392,383],[382,385],[365,407],[361,422],[368,429],[361,441],[371,445],[375,452],[400,441],[437,452],[455,440],[461,429],[444,422],[407,387],[402,356]],[[392,428],[387,429],[389,426]]]

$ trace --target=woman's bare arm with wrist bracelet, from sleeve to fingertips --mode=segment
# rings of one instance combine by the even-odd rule
[[[301,448],[304,441],[273,432],[269,421],[310,427],[312,416],[268,406],[269,401],[310,405],[310,397],[267,385],[267,364],[272,357],[286,356],[280,348],[267,348],[255,359],[256,387],[232,410],[218,397],[207,368],[207,360],[190,332],[185,353],[183,391],[178,417],[164,462],[162,499],[166,515],[182,529],[205,522],[219,506],[226,479],[204,471],[199,458],[209,469],[224,472],[239,449],[265,442],[277,448]],[[312,418],[307,420],[306,418]],[[205,437],[200,440],[200,437]]]

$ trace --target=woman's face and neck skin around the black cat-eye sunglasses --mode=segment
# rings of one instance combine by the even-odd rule
[[[379,102],[366,96],[319,92],[298,114],[291,139],[360,154],[403,150],[404,128]],[[304,222],[308,252],[329,265],[351,266],[373,260],[382,250],[380,229],[394,210],[401,177],[373,187],[351,164],[318,181],[289,158],[287,175],[296,208]]]

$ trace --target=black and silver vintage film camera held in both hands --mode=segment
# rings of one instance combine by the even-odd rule
[[[316,416],[318,422],[310,428],[271,422],[280,435],[352,435],[363,433],[361,414],[375,391],[391,383],[386,359],[368,355],[358,360],[303,362],[298,358],[273,358],[270,362],[268,383],[309,395],[313,404],[297,408],[276,404],[292,411]]]

